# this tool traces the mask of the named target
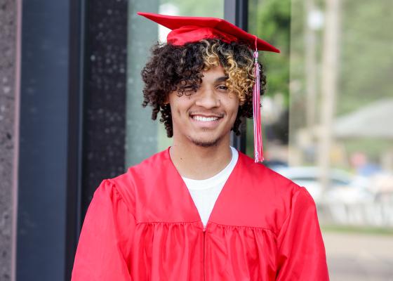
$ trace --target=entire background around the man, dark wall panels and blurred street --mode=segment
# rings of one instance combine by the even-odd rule
[[[140,106],[168,30],[137,11],[225,18],[281,50],[260,53],[263,164],[314,197],[331,280],[393,280],[392,0],[1,0],[0,280],[69,280],[100,181],[171,145]]]

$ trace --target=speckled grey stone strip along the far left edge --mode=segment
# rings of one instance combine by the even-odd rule
[[[16,169],[15,110],[18,108],[18,87],[15,71],[17,58],[17,1],[4,0],[0,6],[0,280],[13,277],[15,232]]]

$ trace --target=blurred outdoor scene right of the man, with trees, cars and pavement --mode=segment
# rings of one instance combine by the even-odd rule
[[[264,54],[266,164],[314,197],[331,280],[388,280],[393,276],[386,249],[393,245],[392,1],[249,3],[250,31],[283,51]],[[252,138],[248,129],[250,155]]]

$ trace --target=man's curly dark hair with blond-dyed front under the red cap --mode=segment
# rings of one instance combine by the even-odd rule
[[[160,122],[164,123],[166,134],[173,136],[171,106],[166,103],[168,94],[178,91],[178,96],[192,95],[202,83],[202,72],[221,65],[228,79],[226,86],[230,93],[239,97],[239,110],[232,126],[240,134],[242,117],[253,117],[254,63],[253,51],[246,44],[225,43],[220,39],[205,39],[184,46],[155,44],[152,57],[142,70],[142,106],[152,106],[152,119],[161,112]],[[182,85],[187,85],[187,90]],[[266,77],[260,65],[260,94],[265,93]]]

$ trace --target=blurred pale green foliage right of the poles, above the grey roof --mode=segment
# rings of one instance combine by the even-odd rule
[[[338,115],[393,98],[392,13],[392,0],[342,1]]]

